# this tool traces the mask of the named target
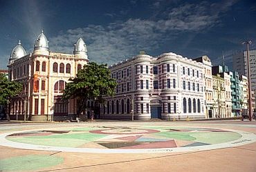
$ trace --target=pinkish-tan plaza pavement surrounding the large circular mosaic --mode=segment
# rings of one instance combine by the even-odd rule
[[[190,122],[1,123],[0,134],[31,129],[143,125],[211,127],[256,134],[256,122],[239,120]],[[1,144],[1,143],[0,143]],[[22,162],[23,164],[19,164]],[[35,162],[35,163],[34,163]],[[41,162],[41,163],[40,163]],[[8,164],[9,163],[9,164]],[[34,163],[34,164],[33,164]],[[28,168],[28,166],[30,166]],[[0,146],[0,171],[256,171],[256,142],[239,147],[174,153],[73,153]]]

